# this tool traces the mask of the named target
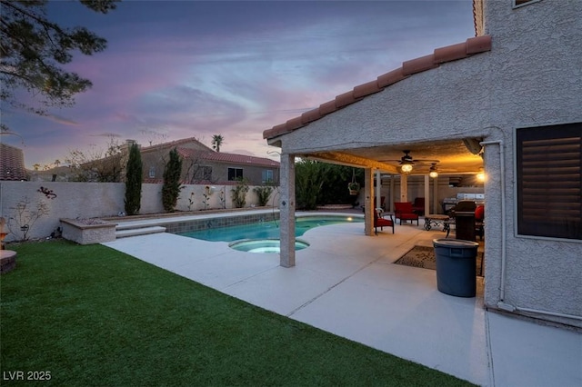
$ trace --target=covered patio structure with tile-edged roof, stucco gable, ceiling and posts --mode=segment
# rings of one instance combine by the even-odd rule
[[[268,144],[281,148],[281,265],[295,261],[295,170],[297,157],[344,164],[365,170],[366,235],[374,233],[374,200],[382,174],[398,176],[394,202],[414,200],[407,192],[411,175],[424,176],[425,208],[438,208],[437,189],[430,192],[429,172],[441,175],[486,172],[487,238],[501,241],[505,208],[500,193],[503,137],[496,127],[482,124],[479,101],[486,98],[478,64],[491,48],[490,36],[467,39],[435,50],[401,68],[360,84],[346,94],[295,119],[266,130]],[[459,60],[463,59],[463,60]],[[426,70],[432,70],[427,72]],[[414,76],[413,76],[414,75]],[[406,170],[405,164],[412,168]],[[494,205],[490,205],[493,203]],[[497,218],[497,219],[496,219]],[[497,235],[496,235],[497,233]],[[486,254],[487,255],[487,254]],[[487,259],[487,258],[486,258]]]

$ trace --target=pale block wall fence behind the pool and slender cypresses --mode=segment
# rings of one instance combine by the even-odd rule
[[[162,206],[163,184],[142,184],[139,214],[165,213]],[[42,187],[42,188],[41,188]],[[206,185],[184,185],[176,205],[176,213],[204,212],[204,210],[235,208],[232,190],[235,185],[213,185],[211,194]],[[246,207],[258,206],[254,186],[246,193]],[[27,238],[46,238],[60,226],[61,218],[90,219],[116,217],[125,212],[124,183],[70,183],[70,182],[0,182],[0,216],[5,218],[8,235],[5,242],[23,239],[22,227],[28,227]],[[278,206],[278,187],[267,203]],[[22,204],[25,203],[24,210]],[[39,205],[46,213],[34,219]]]

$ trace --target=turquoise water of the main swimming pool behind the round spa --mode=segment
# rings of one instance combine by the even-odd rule
[[[295,235],[301,236],[314,227],[338,223],[363,223],[363,218],[352,216],[304,216],[295,221]],[[229,227],[207,228],[206,230],[181,233],[190,238],[210,242],[234,242],[241,239],[278,239],[279,221],[241,224]]]

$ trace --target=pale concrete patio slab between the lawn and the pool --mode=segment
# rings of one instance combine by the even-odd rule
[[[106,246],[220,292],[483,386],[582,386],[582,333],[487,312],[477,297],[437,291],[436,272],[393,264],[438,230],[363,223],[317,227],[296,267],[277,254],[241,253],[170,233]],[[480,277],[477,277],[480,279]]]

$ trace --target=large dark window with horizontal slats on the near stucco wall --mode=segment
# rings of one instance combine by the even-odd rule
[[[582,123],[521,128],[517,233],[582,240]]]

